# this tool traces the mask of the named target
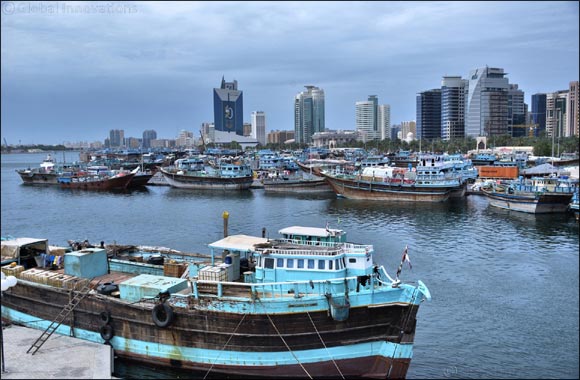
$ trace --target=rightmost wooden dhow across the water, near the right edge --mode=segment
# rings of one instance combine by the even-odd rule
[[[490,182],[481,188],[493,207],[531,214],[564,213],[568,210],[576,180],[534,177],[503,183]]]

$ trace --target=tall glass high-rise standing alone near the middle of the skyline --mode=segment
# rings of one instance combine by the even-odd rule
[[[305,86],[306,91],[294,99],[294,136],[299,144],[312,142],[312,135],[323,132],[324,90],[315,86]]]

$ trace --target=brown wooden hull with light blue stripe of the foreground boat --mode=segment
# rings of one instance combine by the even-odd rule
[[[152,318],[153,303],[95,293],[84,298],[64,323],[72,321],[77,338],[106,343],[100,332],[106,323],[101,313],[108,312],[107,324],[113,331],[108,341],[119,357],[214,375],[404,378],[420,299],[415,293],[412,302],[363,306],[368,297],[353,293],[351,302],[361,306],[352,307],[342,322],[330,317],[324,297],[296,299],[296,311],[286,313],[276,312],[267,300],[236,305],[189,299],[173,307],[171,325],[158,327]],[[21,280],[4,293],[2,318],[44,330],[69,300],[65,289]],[[314,304],[320,308],[312,309]],[[232,307],[238,312],[223,310]],[[65,324],[56,330],[65,335],[70,331]]]

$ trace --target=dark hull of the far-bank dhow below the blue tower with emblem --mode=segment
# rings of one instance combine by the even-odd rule
[[[160,169],[165,181],[172,187],[191,190],[247,190],[252,186],[253,176],[216,177],[181,175]]]

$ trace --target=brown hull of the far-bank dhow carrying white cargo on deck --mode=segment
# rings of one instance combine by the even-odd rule
[[[452,191],[463,190],[440,188],[440,187],[418,187],[404,182],[393,184],[378,181],[351,180],[346,178],[335,178],[325,175],[329,185],[334,192],[349,199],[371,199],[380,201],[403,201],[403,202],[445,202],[449,199]]]

